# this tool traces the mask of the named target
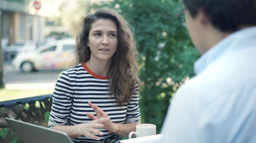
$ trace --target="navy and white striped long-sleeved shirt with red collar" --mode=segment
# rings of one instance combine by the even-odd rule
[[[52,111],[50,112],[48,128],[55,125],[72,126],[92,121],[86,112],[96,116],[88,102],[96,104],[108,114],[111,121],[118,124],[140,124],[139,112],[139,87],[136,85],[132,99],[124,106],[116,106],[114,95],[109,91],[109,76],[94,74],[85,63],[78,64],[61,74],[56,82],[52,94]],[[109,131],[104,132],[100,141],[89,139],[85,136],[73,139],[74,143],[100,143],[103,139],[113,136]]]

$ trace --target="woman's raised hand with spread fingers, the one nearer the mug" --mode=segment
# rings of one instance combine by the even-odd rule
[[[97,120],[97,119],[101,119],[101,118],[105,118],[106,121],[104,121],[102,124],[104,124],[104,129],[108,130],[109,132],[117,132],[119,130],[119,126],[115,123],[112,123],[110,120],[110,117],[108,117],[108,114],[105,113],[101,108],[99,108],[96,104],[92,104],[90,101],[88,102],[88,104],[93,108],[94,112],[96,113],[97,117],[94,116],[91,113],[86,113],[86,115],[93,119],[93,120]]]

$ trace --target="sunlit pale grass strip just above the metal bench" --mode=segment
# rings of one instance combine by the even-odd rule
[[[52,89],[0,89],[0,102],[52,94]]]

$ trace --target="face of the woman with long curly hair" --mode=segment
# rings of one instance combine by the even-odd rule
[[[96,20],[90,29],[87,46],[90,60],[109,61],[117,51],[117,25],[112,20]]]

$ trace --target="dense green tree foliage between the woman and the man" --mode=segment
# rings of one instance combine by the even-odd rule
[[[199,57],[186,28],[177,21],[179,0],[112,0],[90,8],[117,9],[135,24],[139,48],[142,123],[157,125],[159,133],[168,105],[178,87],[194,75]]]

